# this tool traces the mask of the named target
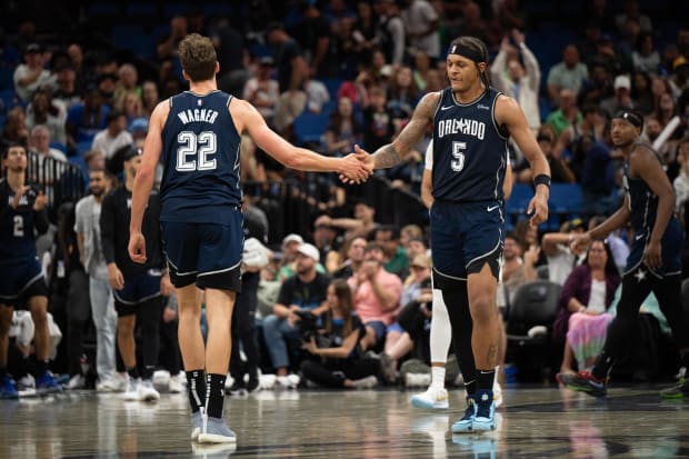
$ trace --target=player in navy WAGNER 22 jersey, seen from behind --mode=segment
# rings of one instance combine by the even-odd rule
[[[159,103],[151,114],[133,188],[129,255],[136,262],[146,260],[141,218],[162,152],[160,222],[179,303],[192,439],[233,443],[236,435],[224,423],[222,406],[243,243],[240,136],[248,133],[261,149],[293,169],[336,171],[357,182],[367,179],[370,170],[361,154],[328,158],[291,146],[268,128],[250,103],[219,91],[218,59],[208,38],[187,36],[179,43],[179,56],[190,90]],[[197,287],[206,295],[206,349]]]

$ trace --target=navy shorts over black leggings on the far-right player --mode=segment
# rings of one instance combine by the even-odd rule
[[[629,249],[629,258],[627,258],[627,267],[625,268],[626,275],[643,262],[643,250],[646,249],[647,240],[651,237],[651,230],[635,232]],[[660,245],[662,266],[659,269],[651,270],[651,272],[657,278],[680,275],[682,271],[681,248],[685,247],[685,233],[677,218],[672,217],[668,221],[668,227],[665,230],[665,235],[662,235]]]

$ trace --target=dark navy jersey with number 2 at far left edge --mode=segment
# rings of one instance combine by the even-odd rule
[[[7,179],[0,179],[0,262],[36,259],[33,229],[46,232],[46,228],[38,228],[39,222],[33,211],[37,196],[37,189],[31,187],[21,197],[17,209],[12,209],[14,191]],[[43,219],[48,220],[47,216]]]

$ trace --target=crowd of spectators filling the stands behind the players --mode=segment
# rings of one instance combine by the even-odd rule
[[[201,7],[173,13],[158,24],[160,37],[143,52],[122,52],[123,44],[117,41],[93,48],[82,39],[63,42],[47,38],[50,30],[37,28],[40,21],[17,22],[4,30],[0,47],[0,67],[12,76],[11,86],[1,88],[1,141],[26,144],[40,161],[78,164],[86,176],[106,168],[121,178],[126,151],[142,146],[156,104],[186,89],[176,47],[186,34],[199,32],[217,46],[220,89],[253,103],[288,140],[331,156],[347,154],[355,144],[373,151],[400,132],[425,93],[446,87],[449,41],[473,34],[490,50],[492,84],[522,107],[550,162],[553,182],[577,183],[583,196],[580,212],[565,216],[560,232],[528,235],[516,222],[505,247],[503,305],[519,286],[537,278],[538,267],[548,266],[550,280],[566,286],[562,315],[577,317],[586,313],[582,308],[599,315],[610,306],[615,285],[608,281],[609,273],[602,287],[595,275],[602,270],[596,258],[601,247],[595,245],[590,250],[596,256],[590,251],[587,256],[569,252],[567,242],[571,231],[586,224],[575,217],[586,220],[619,207],[622,164],[611,146],[609,119],[621,108],[645,114],[643,136],[661,154],[675,184],[676,210],[683,222],[689,217],[689,28],[661,28],[655,16],[643,12],[646,2],[625,0],[618,9],[612,3],[619,2],[591,1],[595,9],[586,14],[585,27],[576,33],[568,29],[565,36],[571,40],[556,49],[531,40],[532,34],[547,34],[537,18],[528,16],[529,9],[515,1],[250,3],[250,8],[232,3],[237,8],[227,17],[208,14]],[[568,28],[565,20],[551,22],[557,26],[553,36]],[[561,61],[548,62],[553,54],[561,54]],[[323,129],[314,138],[300,136],[304,118],[320,120]],[[427,132],[400,166],[377,171],[377,179],[418,194],[431,137]],[[249,138],[242,139],[241,150],[242,179],[253,186],[248,207],[269,235],[266,213],[274,208],[264,196],[278,196],[274,183],[302,176],[271,161]],[[516,181],[530,183],[532,177],[516,147],[510,162]],[[50,186],[49,177],[32,178]],[[290,371],[300,369],[312,375],[308,378],[313,382],[357,387],[370,385],[368,377],[377,375],[371,361],[377,361],[383,379],[395,381],[406,359],[428,361],[417,346],[425,342],[422,331],[428,331],[425,323],[432,313],[425,297],[430,273],[425,222],[407,228],[379,224],[377,211],[380,216],[387,209],[375,209],[366,199],[355,201],[334,177],[317,186],[301,196],[310,209],[311,227],[261,240],[272,258],[260,267],[256,292],[260,367],[276,372],[287,387],[296,385]],[[623,265],[626,240],[626,233],[617,235],[607,252],[616,272]],[[56,260],[58,246],[43,252]],[[687,277],[689,257],[685,259]],[[575,281],[572,276],[587,280]],[[332,279],[347,280],[351,298]],[[591,297],[595,301],[587,305]],[[398,320],[410,305],[421,313],[407,310]],[[337,351],[319,355],[314,341],[304,340],[299,326],[303,310],[316,311],[317,327],[327,331]],[[358,319],[342,322],[350,310]],[[168,312],[167,322],[172,317]],[[566,328],[559,336],[561,346],[565,341],[569,348],[585,346]],[[563,356],[566,369],[576,360],[586,365],[585,357]],[[352,359],[361,362],[343,362]],[[73,356],[66,361],[74,361]],[[54,369],[66,371],[59,365]],[[338,377],[323,376],[328,371],[339,372]],[[366,381],[356,382],[359,379]]]

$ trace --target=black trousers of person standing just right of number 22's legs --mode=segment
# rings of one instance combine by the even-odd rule
[[[257,289],[258,273],[244,275],[241,293],[237,296],[232,311],[232,355],[230,357],[230,375],[241,380],[244,373],[258,376],[259,347],[258,330],[256,328],[256,308],[258,306]],[[241,347],[240,347],[241,342]],[[246,366],[241,361],[239,350],[247,356]]]

